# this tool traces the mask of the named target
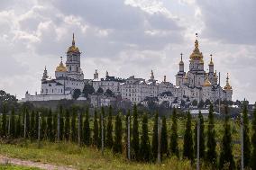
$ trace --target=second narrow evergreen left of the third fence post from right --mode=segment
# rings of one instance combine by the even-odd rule
[[[142,118],[141,157],[142,161],[146,162],[151,159],[151,142],[148,133],[148,116],[144,113]]]

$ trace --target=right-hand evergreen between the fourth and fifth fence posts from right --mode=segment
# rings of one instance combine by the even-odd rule
[[[118,113],[115,116],[115,126],[114,126],[114,146],[113,146],[113,151],[114,153],[122,153],[122,120],[121,116]]]

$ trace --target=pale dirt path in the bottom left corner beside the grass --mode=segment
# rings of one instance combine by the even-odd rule
[[[47,170],[75,170],[71,167],[66,167],[66,166],[53,166],[50,164],[43,164],[39,162],[32,162],[29,160],[22,160],[22,159],[17,159],[17,158],[12,158],[12,157],[5,157],[5,156],[0,156],[0,164],[12,164],[16,166],[30,166],[30,167],[38,167],[41,169],[47,169]]]

